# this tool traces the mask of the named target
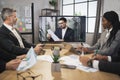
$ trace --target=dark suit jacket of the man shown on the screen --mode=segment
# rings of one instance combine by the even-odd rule
[[[61,28],[57,28],[55,31],[55,34],[62,39],[62,29]],[[73,42],[74,41],[74,30],[72,30],[71,28],[67,28],[65,36],[64,36],[64,41],[65,42]]]

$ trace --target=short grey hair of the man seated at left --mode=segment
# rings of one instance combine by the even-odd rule
[[[3,8],[1,11],[1,17],[3,21],[5,21],[8,16],[11,16],[13,12],[16,12],[16,10],[13,10],[11,8]]]

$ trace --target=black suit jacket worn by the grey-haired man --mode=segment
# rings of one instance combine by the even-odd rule
[[[0,48],[2,48],[3,50],[14,55],[26,54],[28,52],[28,49],[34,45],[27,43],[23,38],[22,41],[25,48],[20,47],[17,38],[9,29],[7,29],[4,25],[0,27]]]

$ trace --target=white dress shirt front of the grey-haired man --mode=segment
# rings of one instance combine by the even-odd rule
[[[20,44],[20,47],[21,47],[21,48],[25,48],[25,47],[24,47],[24,44],[23,44],[23,41],[22,41],[22,38],[20,37],[20,35],[19,35],[18,32],[16,31],[16,29],[15,29],[14,27],[10,26],[10,25],[5,24],[5,23],[3,23],[3,25],[4,25],[6,28],[8,28],[8,29],[15,35],[15,37],[17,38],[17,40],[18,40],[18,42],[19,42],[19,44]]]

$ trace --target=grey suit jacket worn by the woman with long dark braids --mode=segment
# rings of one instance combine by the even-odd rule
[[[90,50],[95,50],[95,49],[99,49],[98,53],[102,54],[102,55],[106,55],[106,56],[118,56],[119,54],[119,50],[120,50],[120,30],[118,30],[118,32],[115,35],[115,39],[112,41],[111,45],[108,47],[107,46],[107,40],[108,38],[106,38],[106,34],[107,31],[105,30],[99,40],[97,41],[97,43],[90,47]]]

